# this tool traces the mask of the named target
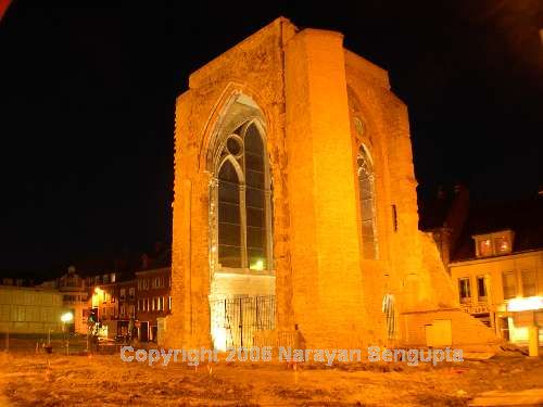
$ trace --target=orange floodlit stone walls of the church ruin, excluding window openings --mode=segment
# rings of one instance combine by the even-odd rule
[[[277,338],[296,332],[307,347],[408,343],[419,341],[412,332],[420,332],[426,320],[404,315],[389,339],[386,294],[394,296],[397,315],[455,306],[434,244],[418,231],[407,109],[390,91],[387,72],[346,51],[342,39],[333,31],[299,31],[281,17],[190,76],[176,106],[166,346],[211,345],[209,151],[241,93],[257,104],[265,122]],[[353,125],[355,116],[365,131]],[[364,258],[362,251],[361,144],[375,171],[377,258]],[[242,280],[222,288],[239,294]],[[264,291],[270,290],[268,284]]]

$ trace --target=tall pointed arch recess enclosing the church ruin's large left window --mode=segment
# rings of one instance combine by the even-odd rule
[[[273,269],[272,178],[266,126],[258,105],[237,93],[206,152],[210,263],[216,271]]]

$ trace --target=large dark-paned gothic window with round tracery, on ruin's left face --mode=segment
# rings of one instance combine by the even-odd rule
[[[273,268],[272,181],[263,133],[251,119],[219,144],[216,269]]]

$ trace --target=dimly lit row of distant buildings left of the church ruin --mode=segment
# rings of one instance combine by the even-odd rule
[[[0,332],[58,332],[61,315],[70,311],[74,318],[64,328],[72,332],[87,334],[93,315],[100,336],[156,341],[159,319],[172,309],[171,250],[156,243],[150,253],[131,262],[97,260],[102,271],[70,266],[61,277],[34,288],[24,287],[27,280],[2,278]]]

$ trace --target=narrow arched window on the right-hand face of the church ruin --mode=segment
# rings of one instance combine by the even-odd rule
[[[362,219],[362,249],[364,258],[377,258],[377,222],[375,175],[371,160],[361,145],[356,157]]]

